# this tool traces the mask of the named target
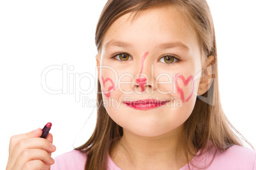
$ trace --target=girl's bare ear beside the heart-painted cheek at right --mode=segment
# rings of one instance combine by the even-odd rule
[[[213,83],[213,78],[215,77],[214,75],[214,69],[213,64],[215,63],[215,56],[210,55],[206,59],[204,63],[204,69],[202,70],[200,82],[199,82],[199,87],[197,91],[197,95],[201,96],[210,89],[211,84]]]

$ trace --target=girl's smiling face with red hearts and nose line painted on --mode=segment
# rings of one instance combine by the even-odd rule
[[[111,25],[96,57],[103,103],[125,130],[159,136],[192,113],[201,48],[192,25],[173,7],[143,11],[134,20],[130,15]]]

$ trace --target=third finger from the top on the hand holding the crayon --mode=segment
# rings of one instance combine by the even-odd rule
[[[54,164],[54,160],[48,152],[41,149],[27,149],[24,150],[17,158],[14,167],[24,167],[25,164],[31,160],[41,160],[44,164],[50,166]]]

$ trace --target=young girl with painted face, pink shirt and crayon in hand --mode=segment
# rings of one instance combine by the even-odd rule
[[[52,134],[13,136],[6,169],[256,169],[220,105],[205,0],[110,0],[96,45],[90,139],[54,161]]]

